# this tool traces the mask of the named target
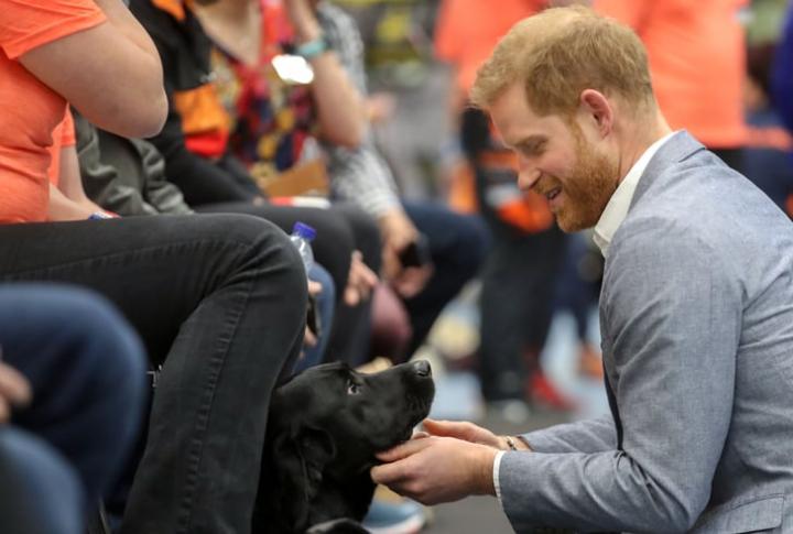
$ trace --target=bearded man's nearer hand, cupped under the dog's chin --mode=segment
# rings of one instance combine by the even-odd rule
[[[376,483],[423,504],[437,504],[470,494],[495,494],[492,466],[498,451],[452,437],[420,437],[377,457]]]

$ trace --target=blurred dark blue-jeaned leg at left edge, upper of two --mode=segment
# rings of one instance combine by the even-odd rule
[[[90,506],[115,481],[140,427],[140,340],[98,295],[21,285],[0,288],[0,345],[33,389],[14,425],[75,467]]]

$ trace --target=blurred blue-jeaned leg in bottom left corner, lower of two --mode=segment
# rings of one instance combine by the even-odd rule
[[[41,438],[0,427],[3,534],[82,534],[84,491],[77,471]]]

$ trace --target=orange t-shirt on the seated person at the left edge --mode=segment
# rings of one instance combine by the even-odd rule
[[[0,0],[0,224],[45,219],[53,130],[66,112],[18,58],[102,21],[93,0]]]

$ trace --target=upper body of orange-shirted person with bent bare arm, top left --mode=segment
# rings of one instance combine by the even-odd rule
[[[159,67],[159,57],[153,45],[108,22],[131,18],[118,1],[0,0],[0,17],[21,21],[0,24],[0,224],[43,221],[51,155],[61,142],[53,131],[66,102],[119,134],[152,134],[166,101],[162,79],[141,73]]]

